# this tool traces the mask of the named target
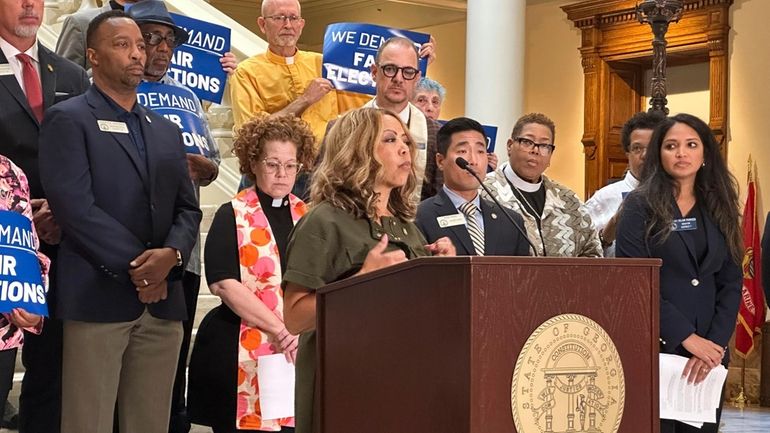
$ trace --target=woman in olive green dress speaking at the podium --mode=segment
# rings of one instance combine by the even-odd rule
[[[326,136],[313,177],[313,208],[289,241],[284,313],[300,336],[297,356],[298,433],[312,433],[316,356],[315,291],[331,282],[419,256],[454,255],[448,238],[425,245],[412,222],[416,148],[395,114],[350,111]]]

